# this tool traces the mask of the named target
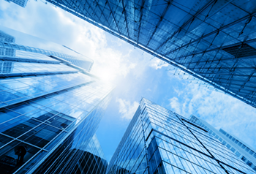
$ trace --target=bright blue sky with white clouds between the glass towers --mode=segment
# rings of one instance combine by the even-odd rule
[[[31,0],[23,8],[0,1],[0,25],[66,45],[92,58],[91,73],[116,86],[97,130],[108,161],[142,97],[181,116],[203,118],[256,149],[254,107],[173,75],[168,70],[173,67],[51,4]]]

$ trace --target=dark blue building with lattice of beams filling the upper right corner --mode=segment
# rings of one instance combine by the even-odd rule
[[[46,0],[256,107],[256,0]]]

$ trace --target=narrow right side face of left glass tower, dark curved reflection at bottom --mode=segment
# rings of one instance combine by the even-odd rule
[[[101,151],[99,145],[91,152],[87,151],[90,148],[87,145],[94,140],[93,136],[109,101],[110,97],[105,97],[34,173],[105,173],[108,163],[104,158],[91,154],[92,151],[96,154]]]

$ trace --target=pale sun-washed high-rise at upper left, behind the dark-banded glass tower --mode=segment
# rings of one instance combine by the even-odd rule
[[[30,42],[24,42],[24,37]],[[49,48],[50,50],[48,50]],[[63,58],[65,61],[69,61],[69,63],[82,68],[86,72],[90,72],[94,64],[91,58],[83,56],[65,45],[59,45],[0,26],[0,56],[10,60],[14,60],[15,56],[18,58],[29,58],[29,60],[38,57],[43,61],[45,59],[43,55],[57,56],[59,59]]]

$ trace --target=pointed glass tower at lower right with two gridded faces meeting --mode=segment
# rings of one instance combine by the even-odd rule
[[[200,125],[142,99],[107,173],[256,172]]]

